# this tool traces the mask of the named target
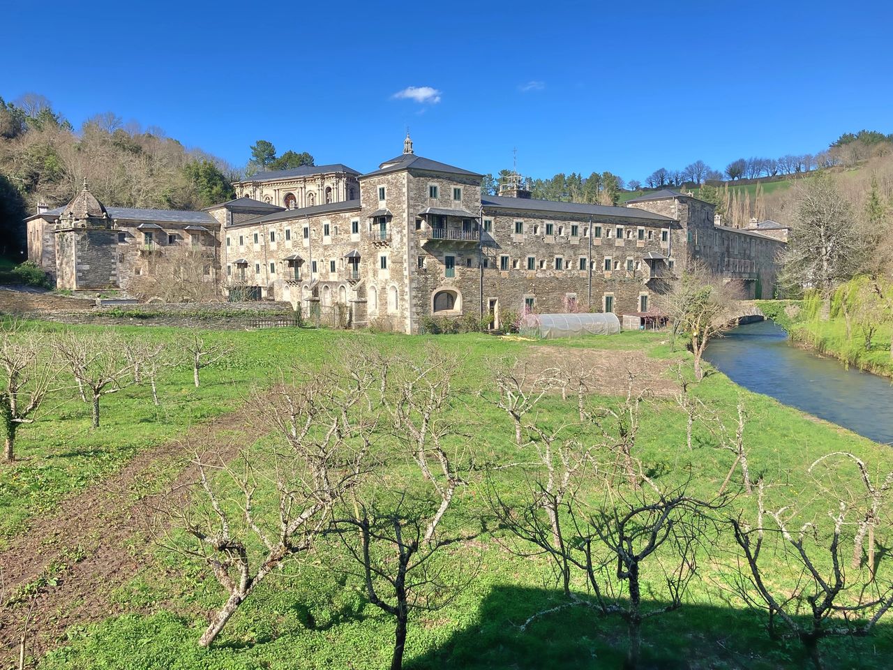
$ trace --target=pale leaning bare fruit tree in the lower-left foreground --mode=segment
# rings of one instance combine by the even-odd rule
[[[271,397],[255,392],[255,434],[271,431],[269,438],[232,463],[207,456],[207,444],[196,450],[198,504],[180,501],[169,510],[174,526],[196,542],[167,545],[204,561],[228,593],[200,646],[214,641],[259,583],[289,558],[309,554],[332,507],[355,485],[374,428],[364,411],[372,377],[366,380],[349,387],[337,373],[322,372]]]

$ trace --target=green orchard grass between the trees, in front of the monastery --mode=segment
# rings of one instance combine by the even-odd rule
[[[89,331],[89,329],[86,329]],[[176,343],[176,329],[129,329],[136,334]],[[612,356],[644,349],[654,364],[680,359],[690,373],[688,356],[671,352],[661,334],[625,332],[620,336],[528,342],[486,335],[403,336],[313,330],[209,332],[234,348],[226,364],[204,370],[195,389],[185,366],[163,380],[163,407],[147,401],[143,387],[132,387],[104,399],[103,425],[89,427],[88,406],[71,402],[47,421],[26,426],[19,439],[22,460],[0,465],[0,533],[7,541],[21,533],[36,515],[51,511],[66,495],[120,469],[130,458],[163,440],[182,435],[196,422],[207,421],[239,406],[248,389],[269,386],[281,365],[321,363],[339,356],[349,339],[365,348],[406,356],[426,348],[443,348],[462,358],[458,392],[461,415],[452,419],[473,436],[472,454],[481,461],[508,463],[518,458],[511,421],[485,400],[492,394],[487,362],[494,356],[552,355],[552,348],[580,356]],[[614,370],[619,378],[621,370]],[[483,389],[485,397],[477,391]],[[730,425],[739,398],[747,407],[746,443],[753,473],[764,477],[772,505],[788,502],[804,519],[819,519],[828,499],[814,491],[805,472],[818,456],[847,450],[860,456],[872,472],[893,470],[889,449],[855,434],[780,406],[732,384],[720,373],[697,384],[694,395],[718,411]],[[617,398],[590,398],[593,405],[613,405]],[[555,427],[572,423],[576,398],[551,395],[541,404],[536,422]],[[647,402],[638,432],[637,456],[656,482],[678,484],[690,478],[692,491],[709,497],[730,467],[730,454],[714,448],[706,425],[696,428],[692,450],[686,447],[686,417],[672,398]],[[585,438],[585,434],[582,436]],[[394,473],[397,476],[398,473]],[[490,478],[475,478],[456,507],[457,518],[488,515],[486,487],[520,495],[522,480],[506,468]],[[163,482],[156,484],[162,486]],[[735,498],[745,512],[753,499]],[[457,522],[458,523],[458,522]],[[886,521],[885,521],[886,524]],[[887,546],[888,526],[879,530]],[[881,532],[882,531],[882,532]],[[503,541],[497,541],[501,537]],[[563,602],[544,557],[522,557],[506,549],[506,538],[483,537],[450,554],[457,571],[473,574],[447,607],[411,619],[406,666],[412,668],[605,668],[622,666],[625,625],[599,618],[577,607],[544,616],[526,631],[521,624],[532,613]],[[728,536],[722,535],[699,552],[699,576],[684,607],[645,624],[647,666],[697,668],[796,668],[805,663],[797,641],[771,641],[764,618],[734,599],[728,578],[739,569]],[[71,628],[68,641],[44,657],[39,667],[183,668],[231,670],[259,668],[379,668],[387,666],[393,620],[372,607],[362,584],[346,574],[338,545],[322,541],[313,558],[289,564],[283,574],[264,582],[246,601],[210,650],[196,641],[223,593],[204,565],[156,547],[139,556],[142,567],[113,591],[109,609],[116,616],[86,627]],[[333,569],[335,568],[335,569]],[[341,568],[341,569],[338,569]],[[783,570],[775,578],[784,583]],[[885,566],[880,580],[889,582]],[[646,599],[666,598],[665,586],[647,579]],[[583,592],[583,585],[575,587]],[[47,587],[52,596],[52,587]],[[886,625],[870,638],[822,642],[830,667],[889,666],[893,633]]]

